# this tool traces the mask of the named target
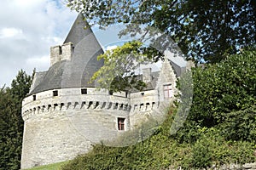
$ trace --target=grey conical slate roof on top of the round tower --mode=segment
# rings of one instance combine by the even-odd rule
[[[103,50],[82,14],[73,23],[64,43],[67,42],[73,43],[71,60],[56,62],[44,74],[38,73],[40,77],[36,74],[30,94],[55,88],[96,86],[94,82],[90,83],[90,77],[103,65],[103,60],[97,60]]]

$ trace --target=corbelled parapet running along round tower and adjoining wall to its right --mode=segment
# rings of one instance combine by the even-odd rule
[[[24,121],[55,111],[152,111],[157,107],[154,90],[146,94],[109,93],[96,88],[61,88],[32,94],[23,100]],[[144,96],[145,95],[145,96]]]

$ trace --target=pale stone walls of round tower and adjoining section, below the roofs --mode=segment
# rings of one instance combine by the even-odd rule
[[[86,94],[81,94],[82,89]],[[57,96],[53,96],[55,91]],[[119,117],[125,118],[125,130],[129,130],[142,119],[138,112],[152,111],[155,106],[154,90],[142,95],[61,88],[32,94],[22,105],[25,127],[21,168],[66,161],[86,153],[91,144],[118,136]]]

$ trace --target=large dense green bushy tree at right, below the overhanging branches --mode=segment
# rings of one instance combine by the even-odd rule
[[[255,141],[255,55],[247,49],[193,70],[193,102],[178,139],[195,142],[201,127],[217,127],[227,139]]]

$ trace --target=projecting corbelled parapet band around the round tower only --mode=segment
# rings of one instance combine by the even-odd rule
[[[130,99],[125,92],[109,94],[96,88],[61,88],[32,94],[23,100],[24,121],[38,114],[69,110],[131,110]]]

